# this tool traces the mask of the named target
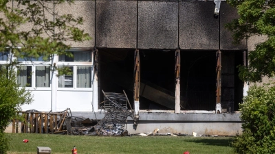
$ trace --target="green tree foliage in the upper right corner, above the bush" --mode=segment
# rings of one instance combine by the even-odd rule
[[[244,81],[262,81],[272,77],[275,70],[275,1],[228,0],[236,7],[239,18],[227,25],[233,32],[235,42],[251,36],[266,36],[248,54],[248,66],[239,66],[239,77]]]

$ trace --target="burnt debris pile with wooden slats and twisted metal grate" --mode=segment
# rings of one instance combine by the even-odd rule
[[[48,113],[28,110],[25,112],[18,112],[18,114],[23,117],[23,120],[13,120],[12,132],[18,133],[21,123],[22,133],[127,136],[126,119],[130,116],[135,121],[135,124],[136,120],[125,92],[124,94],[103,92],[103,94],[104,112],[107,112],[105,112],[104,118],[100,121],[80,116],[72,116],[72,112],[69,108],[63,112]],[[128,110],[127,105],[131,108],[131,112]]]

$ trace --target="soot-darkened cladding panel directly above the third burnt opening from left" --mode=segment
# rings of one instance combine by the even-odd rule
[[[214,4],[181,1],[179,7],[179,47],[181,49],[219,49],[219,17]]]

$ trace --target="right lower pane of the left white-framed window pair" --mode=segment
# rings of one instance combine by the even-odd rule
[[[50,87],[50,66],[36,66],[36,87]]]

